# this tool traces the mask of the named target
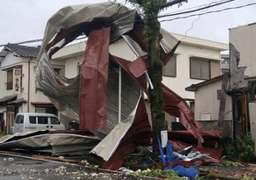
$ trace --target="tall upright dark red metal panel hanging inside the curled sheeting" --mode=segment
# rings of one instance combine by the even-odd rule
[[[110,28],[90,32],[80,70],[79,123],[81,129],[107,126],[107,81]]]

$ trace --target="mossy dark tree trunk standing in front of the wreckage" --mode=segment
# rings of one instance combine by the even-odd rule
[[[163,101],[162,101],[162,61],[160,60],[160,41],[162,34],[160,32],[160,22],[157,17],[162,9],[173,4],[180,4],[186,0],[174,0],[167,3],[167,0],[127,0],[133,5],[139,5],[144,13],[145,44],[148,55],[148,75],[153,83],[154,89],[149,90],[152,133],[153,133],[153,158],[158,156],[157,135],[166,129],[164,119]]]

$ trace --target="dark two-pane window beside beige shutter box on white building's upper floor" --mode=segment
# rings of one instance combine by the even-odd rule
[[[199,57],[191,57],[190,76],[192,79],[210,79],[210,60]]]

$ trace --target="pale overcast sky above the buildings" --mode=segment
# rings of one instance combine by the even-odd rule
[[[207,6],[215,2],[227,0],[189,0],[181,7],[174,5],[162,15],[177,11],[189,11],[190,8]],[[43,32],[48,19],[59,9],[70,4],[93,4],[105,2],[103,0],[1,0],[0,16],[0,45],[19,43],[26,40],[39,40],[43,38]],[[117,1],[124,4],[124,0]],[[219,11],[225,8],[236,8],[241,5],[253,4],[229,11],[212,12],[207,15],[197,15],[191,18],[171,20],[192,14],[203,14],[209,11]],[[202,6],[204,5],[204,6]],[[169,32],[175,32],[205,40],[214,40],[229,43],[229,28],[239,25],[248,25],[256,22],[256,0],[236,0],[231,3],[215,6],[203,11],[175,17],[159,18],[162,27]],[[29,46],[30,44],[26,44]],[[2,47],[0,47],[2,49]]]

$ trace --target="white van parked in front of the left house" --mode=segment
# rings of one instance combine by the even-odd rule
[[[18,113],[14,120],[13,133],[37,130],[64,130],[56,115],[49,113]]]

